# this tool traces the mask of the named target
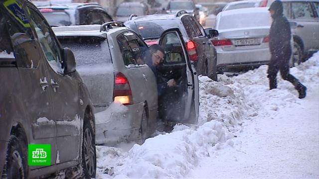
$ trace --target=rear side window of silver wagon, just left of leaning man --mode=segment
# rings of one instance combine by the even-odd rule
[[[124,32],[117,37],[118,44],[121,49],[124,64],[128,67],[145,64],[143,61],[144,52],[147,46],[139,41],[138,36],[129,31]]]

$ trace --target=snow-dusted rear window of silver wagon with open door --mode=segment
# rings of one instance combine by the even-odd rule
[[[59,38],[63,47],[70,48],[77,67],[103,66],[112,63],[110,49],[104,38]]]

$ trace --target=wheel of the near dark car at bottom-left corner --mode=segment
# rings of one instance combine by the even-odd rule
[[[16,136],[10,135],[1,179],[26,179],[26,149]]]

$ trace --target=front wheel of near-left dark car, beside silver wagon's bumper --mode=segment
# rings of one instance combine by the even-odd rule
[[[83,126],[82,142],[82,168],[85,178],[95,178],[96,174],[96,151],[95,137],[89,122]]]

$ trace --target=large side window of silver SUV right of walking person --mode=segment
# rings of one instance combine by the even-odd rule
[[[315,15],[310,2],[292,2],[295,19],[314,19]]]

